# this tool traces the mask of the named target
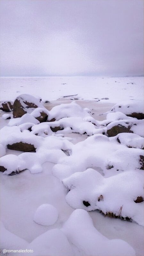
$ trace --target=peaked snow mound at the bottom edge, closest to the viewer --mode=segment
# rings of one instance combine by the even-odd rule
[[[88,212],[82,209],[75,210],[63,228],[48,230],[30,246],[36,256],[135,256],[128,243],[101,235],[94,228]]]

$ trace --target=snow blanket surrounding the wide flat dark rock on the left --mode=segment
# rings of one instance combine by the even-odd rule
[[[4,131],[4,128],[5,129]],[[65,150],[71,151],[73,144],[65,138],[49,136],[42,138],[32,134],[29,131],[20,132],[18,126],[4,127],[1,129],[3,132],[10,133],[7,137],[4,137],[3,145],[7,143],[16,143],[18,141],[25,141],[28,143],[34,143],[36,152],[25,152],[19,156],[6,155],[0,158],[0,165],[6,169],[4,174],[11,174],[12,172],[19,172],[28,169],[31,173],[42,172],[42,164],[45,162],[52,162],[57,164],[60,159],[65,158]],[[17,130],[17,133],[11,133],[11,130]],[[33,144],[32,144],[33,145]]]

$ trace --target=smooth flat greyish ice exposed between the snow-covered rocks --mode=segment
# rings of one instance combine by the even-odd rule
[[[60,98],[59,100],[45,103],[44,107],[51,110],[54,106],[68,104],[73,100]],[[75,100],[82,108],[94,109],[94,118],[99,121],[106,119],[107,114],[99,116],[101,113],[110,111],[114,106],[105,100],[88,101]],[[1,116],[4,112],[0,113]],[[7,125],[9,120],[1,118],[1,126]],[[1,128],[2,128],[1,127]],[[85,134],[65,133],[66,137],[72,138],[72,143],[76,144],[87,138]],[[20,155],[20,151],[7,149],[7,155]],[[65,201],[67,189],[61,181],[52,175],[54,164],[47,162],[42,165],[43,172],[31,175],[28,170],[21,172],[20,175],[6,176],[1,175],[1,220],[7,230],[32,242],[36,237],[52,228],[62,228],[70,214],[74,211]],[[32,177],[32,179],[31,179]],[[42,184],[41,186],[39,186]],[[12,198],[16,199],[12,201]],[[35,200],[33,200],[35,198]],[[36,208],[41,204],[52,204],[59,212],[58,221],[49,227],[37,225],[33,222],[33,215]],[[11,208],[10,214],[9,209]],[[126,222],[119,219],[110,219],[100,214],[98,210],[89,212],[92,217],[94,227],[109,239],[122,239],[128,242],[136,251],[137,256],[143,254],[143,244],[140,243],[143,237],[143,227],[135,222]],[[13,221],[16,220],[16,221]],[[28,227],[28,228],[27,228]],[[31,232],[29,232],[31,230]]]

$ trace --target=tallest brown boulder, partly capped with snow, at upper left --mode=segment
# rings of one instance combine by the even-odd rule
[[[42,107],[40,103],[41,99],[36,99],[34,96],[29,94],[19,95],[13,103],[13,118],[21,117],[24,114],[28,113],[28,109],[31,109],[31,112],[34,108]]]

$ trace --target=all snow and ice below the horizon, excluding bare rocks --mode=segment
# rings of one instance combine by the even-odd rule
[[[134,202],[143,193],[138,161],[143,155],[142,122],[110,110],[118,102],[138,102],[141,108],[143,77],[1,78],[0,100],[13,101],[22,93],[51,101],[44,107],[48,119],[56,121],[39,124],[31,113],[5,120],[5,112],[0,113],[0,127],[7,126],[1,130],[1,163],[9,169],[27,169],[13,176],[0,172],[1,251],[27,248],[34,256],[133,256],[135,252],[142,256],[144,209],[143,203]],[[61,98],[69,95],[74,96]],[[125,110],[123,105],[119,109]],[[134,133],[121,133],[120,144],[117,136],[106,136],[107,124],[119,119],[138,123],[131,128]],[[33,123],[31,132],[25,130],[28,122]],[[64,129],[50,134],[52,123]],[[19,138],[36,144],[36,152],[7,149]],[[91,205],[84,206],[83,200]],[[133,221],[110,218],[99,210],[118,211]]]

